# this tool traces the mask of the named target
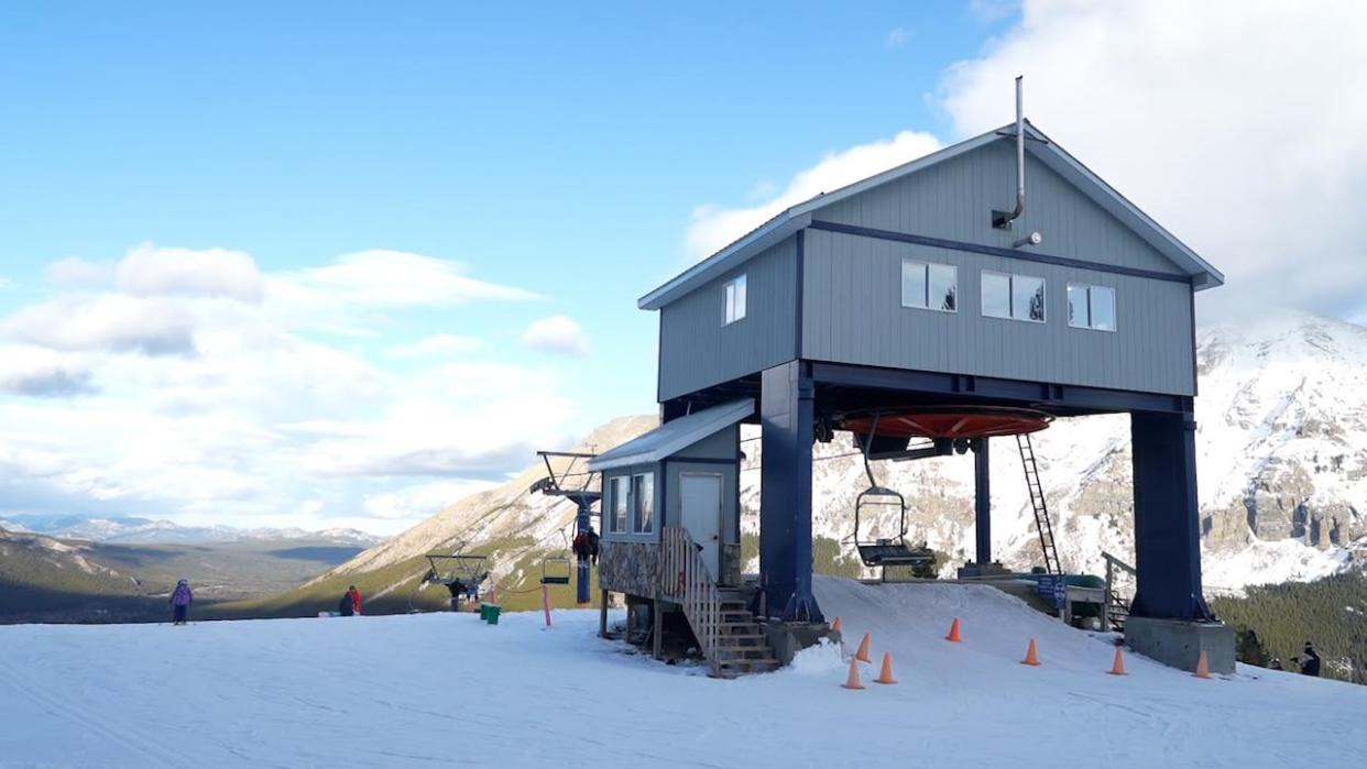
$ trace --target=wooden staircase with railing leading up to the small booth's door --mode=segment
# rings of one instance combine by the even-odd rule
[[[716,585],[688,530],[666,526],[660,545],[660,597],[684,606],[711,675],[735,677],[778,669],[764,628],[745,598],[740,590]]]

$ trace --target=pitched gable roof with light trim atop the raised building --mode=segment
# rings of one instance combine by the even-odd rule
[[[812,223],[812,214],[831,204],[858,195],[872,190],[874,187],[909,176],[932,165],[938,165],[961,154],[973,152],[991,142],[1012,139],[1014,135],[1016,124],[1009,123],[995,131],[988,131],[924,157],[919,157],[910,163],[890,168],[882,173],[869,176],[868,179],[854,182],[853,184],[841,187],[834,193],[822,193],[815,198],[790,206],[764,224],[745,234],[730,246],[726,246],[720,251],[684,270],[668,283],[651,291],[645,296],[641,296],[637,300],[637,306],[642,310],[658,310],[664,305],[668,305],[694,287],[701,285],[718,275],[744,264],[764,249],[768,249],[793,232],[809,225]],[[1185,243],[1178,240],[1176,235],[1163,229],[1135,204],[1125,199],[1125,197],[1107,184],[1105,179],[1083,165],[1081,161],[1068,154],[1064,148],[1050,141],[1048,137],[1046,137],[1028,120],[1025,122],[1025,138],[1027,153],[1062,176],[1088,199],[1114,216],[1121,224],[1132,229],[1156,251],[1185,270],[1187,275],[1192,277],[1192,285],[1196,291],[1214,288],[1225,283],[1223,273],[1215,269],[1206,260],[1200,258],[1196,251],[1191,250]]]

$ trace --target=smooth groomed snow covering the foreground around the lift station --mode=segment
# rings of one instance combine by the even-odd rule
[[[1199,680],[990,587],[819,579],[898,686],[833,649],[712,680],[597,612],[0,627],[0,766],[1346,766],[1367,687]],[[942,637],[962,620],[964,643]],[[1043,667],[1018,664],[1027,641]],[[1098,753],[1100,751],[1100,753]]]

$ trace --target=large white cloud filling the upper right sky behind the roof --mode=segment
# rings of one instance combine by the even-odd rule
[[[1203,316],[1352,316],[1367,307],[1363,40],[1352,3],[1028,1],[940,101],[975,134],[1012,119],[1025,74],[1040,128],[1226,273]]]

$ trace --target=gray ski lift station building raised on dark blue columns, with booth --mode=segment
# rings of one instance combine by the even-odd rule
[[[600,586],[682,609],[704,652],[725,646],[725,615],[746,616],[742,422],[761,428],[761,598],[745,608],[820,624],[813,443],[853,430],[876,456],[971,451],[976,563],[991,564],[986,441],[1032,418],[1129,414],[1125,632],[1172,664],[1204,647],[1233,669],[1202,598],[1193,421],[1195,299],[1222,281],[1020,117],[794,205],[640,299],[659,313],[662,426],[591,460]]]

